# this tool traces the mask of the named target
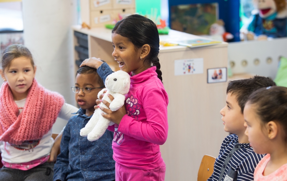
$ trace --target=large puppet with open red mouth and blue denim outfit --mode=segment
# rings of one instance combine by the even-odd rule
[[[254,0],[255,10],[252,11],[245,39],[264,40],[267,37],[278,38],[287,36],[287,6],[286,0]]]

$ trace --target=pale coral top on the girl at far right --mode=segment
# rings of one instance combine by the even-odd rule
[[[282,165],[275,172],[263,176],[263,172],[269,160],[270,154],[267,154],[258,163],[254,171],[254,181],[287,181],[287,164]]]

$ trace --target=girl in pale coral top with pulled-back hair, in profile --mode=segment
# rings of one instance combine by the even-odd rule
[[[245,134],[255,153],[254,181],[287,181],[287,87],[262,88],[244,107]]]

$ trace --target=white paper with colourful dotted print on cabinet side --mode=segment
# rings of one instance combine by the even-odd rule
[[[174,75],[203,74],[203,58],[174,60]]]

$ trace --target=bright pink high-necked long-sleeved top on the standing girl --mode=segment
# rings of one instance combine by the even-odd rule
[[[119,125],[109,126],[115,131],[113,158],[132,168],[150,170],[163,163],[160,146],[167,138],[168,95],[153,66],[131,77],[126,95],[127,115]]]

